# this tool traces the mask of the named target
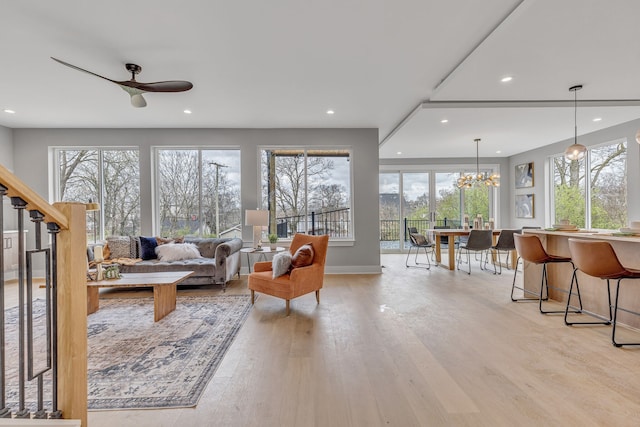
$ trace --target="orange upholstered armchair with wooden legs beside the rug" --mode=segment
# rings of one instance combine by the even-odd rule
[[[255,302],[255,292],[282,298],[287,303],[289,315],[289,301],[309,292],[316,292],[316,301],[320,303],[320,289],[324,279],[324,263],[327,257],[329,236],[310,236],[296,234],[293,236],[289,251],[295,254],[302,245],[311,243],[314,256],[311,265],[293,268],[289,273],[273,278],[271,262],[257,262],[253,273],[249,275],[249,289],[251,289],[251,304]]]

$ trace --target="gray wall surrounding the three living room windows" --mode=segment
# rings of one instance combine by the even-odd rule
[[[353,150],[355,242],[331,246],[329,273],[379,273],[377,129],[15,129],[15,174],[46,199],[49,147],[133,146],[140,150],[141,233],[151,235],[151,148],[154,146],[230,147],[241,150],[243,209],[259,199],[258,147],[261,145],[348,146]],[[1,151],[0,151],[1,153]],[[251,240],[251,227],[243,237]]]

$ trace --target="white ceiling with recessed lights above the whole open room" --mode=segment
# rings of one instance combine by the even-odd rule
[[[638,0],[3,2],[0,125],[375,127],[381,158],[468,157],[474,138],[510,156],[573,135],[575,84],[579,133],[640,117],[638,16]],[[194,88],[136,109],[51,56]]]

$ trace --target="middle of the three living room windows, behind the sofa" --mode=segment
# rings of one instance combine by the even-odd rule
[[[240,237],[240,150],[156,149],[161,236]]]

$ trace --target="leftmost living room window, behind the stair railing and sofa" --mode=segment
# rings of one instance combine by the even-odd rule
[[[100,204],[100,211],[87,215],[87,240],[139,234],[138,150],[59,148],[54,153],[55,199]]]

